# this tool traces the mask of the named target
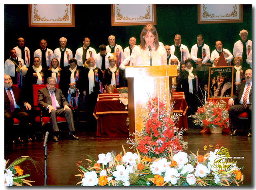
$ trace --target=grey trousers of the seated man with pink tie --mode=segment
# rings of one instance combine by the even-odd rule
[[[71,109],[65,109],[64,108],[57,108],[57,110],[52,110],[51,113],[48,113],[49,110],[47,111],[48,117],[50,117],[50,124],[52,126],[52,132],[58,132],[59,127],[57,124],[57,116],[60,117],[65,117],[66,121],[68,123],[68,129],[70,132],[75,131],[75,126],[74,126],[74,118],[73,118],[73,112]]]

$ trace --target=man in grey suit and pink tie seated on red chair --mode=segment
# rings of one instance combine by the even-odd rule
[[[75,131],[75,127],[72,110],[68,107],[68,101],[62,94],[62,91],[56,88],[56,84],[57,81],[54,77],[48,77],[46,87],[38,90],[38,105],[43,106],[48,110],[48,115],[50,117],[50,123],[53,131],[52,141],[59,141],[59,128],[56,120],[57,116],[66,118],[68,129],[70,131],[70,139],[78,140],[78,137],[73,133]],[[54,101],[52,101],[52,99],[54,99]]]

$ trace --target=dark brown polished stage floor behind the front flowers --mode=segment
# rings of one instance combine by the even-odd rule
[[[230,137],[228,133],[222,134],[200,134],[202,129],[190,129],[184,135],[184,140],[188,142],[188,149],[186,153],[193,152],[196,154],[199,149],[199,154],[204,155],[210,151],[214,151],[215,146],[224,146],[229,150],[232,157],[244,157],[244,159],[237,160],[237,166],[244,168],[244,183],[243,186],[252,186],[252,138],[246,136]],[[77,169],[76,162],[88,158],[86,154],[98,160],[98,154],[107,152],[122,151],[122,145],[126,152],[129,151],[129,144],[126,144],[127,136],[101,136],[96,137],[96,131],[77,131],[76,135],[79,141],[72,141],[68,139],[60,140],[58,143],[52,141],[47,145],[47,186],[76,186],[80,182],[80,178],[76,174],[80,174]],[[213,149],[210,149],[213,145]],[[207,146],[207,150],[204,150]],[[5,150],[4,158],[10,159],[11,163],[20,156],[30,156],[41,164],[40,174],[37,174],[35,167],[29,161],[21,164],[21,167],[26,167],[30,170],[31,180],[33,186],[44,185],[44,152],[43,142],[34,142],[27,144],[14,144],[13,150]],[[83,160],[83,164],[86,164]],[[10,164],[9,163],[9,164]],[[8,165],[9,165],[8,164]],[[27,170],[24,169],[24,174]],[[26,178],[30,180],[29,178]]]

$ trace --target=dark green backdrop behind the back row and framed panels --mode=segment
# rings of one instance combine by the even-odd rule
[[[136,5],[135,5],[136,6]],[[221,6],[221,5],[220,5]],[[68,40],[67,47],[76,49],[82,46],[84,36],[89,36],[91,46],[99,52],[100,44],[108,45],[108,36],[116,36],[116,44],[127,47],[129,38],[134,36],[140,44],[143,26],[111,26],[110,4],[75,5],[75,27],[28,27],[28,5],[4,5],[4,61],[9,58],[8,50],[17,46],[17,39],[23,37],[30,54],[40,48],[41,39],[46,39],[48,48],[59,47],[59,39]],[[248,39],[252,39],[252,5],[243,5],[242,23],[197,24],[197,5],[156,5],[156,29],[159,40],[164,45],[174,44],[174,35],[180,34],[182,44],[191,47],[196,44],[196,36],[204,35],[204,43],[214,50],[216,40],[222,40],[223,48],[232,53],[234,43],[240,40],[239,32],[246,29]]]

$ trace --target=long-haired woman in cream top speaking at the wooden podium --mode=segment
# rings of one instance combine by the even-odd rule
[[[140,45],[132,50],[130,66],[167,65],[166,49],[159,46],[158,34],[152,24],[140,33]]]

